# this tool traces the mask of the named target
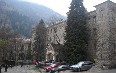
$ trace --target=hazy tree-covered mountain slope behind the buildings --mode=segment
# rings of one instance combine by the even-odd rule
[[[31,29],[43,19],[45,23],[65,19],[42,5],[20,0],[0,0],[0,25],[8,25],[14,32],[31,36]]]

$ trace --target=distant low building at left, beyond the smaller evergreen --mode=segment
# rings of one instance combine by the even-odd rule
[[[26,38],[15,38],[14,39],[14,49],[12,55],[14,55],[14,59],[17,63],[19,62],[25,62],[30,63],[31,62],[31,41],[30,39]]]

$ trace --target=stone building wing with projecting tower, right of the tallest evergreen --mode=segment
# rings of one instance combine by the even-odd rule
[[[100,67],[116,67],[116,3],[107,0],[89,12],[89,55]]]

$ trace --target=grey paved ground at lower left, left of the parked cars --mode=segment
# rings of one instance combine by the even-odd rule
[[[4,68],[2,68],[1,73],[39,73],[35,70],[33,70],[34,66],[33,65],[24,65],[23,67],[21,66],[15,66],[13,68],[8,68],[7,72],[4,72]]]

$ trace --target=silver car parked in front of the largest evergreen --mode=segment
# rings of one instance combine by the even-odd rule
[[[87,71],[92,66],[94,66],[94,63],[91,61],[81,61],[78,64],[70,66],[72,71]]]

